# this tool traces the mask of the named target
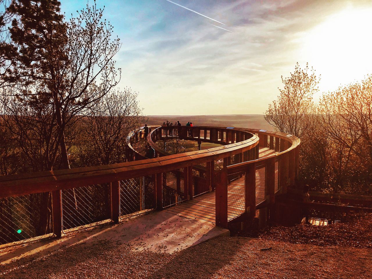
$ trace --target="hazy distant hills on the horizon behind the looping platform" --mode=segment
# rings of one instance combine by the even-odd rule
[[[256,128],[273,131],[272,125],[266,122],[261,114],[232,114],[232,115],[147,115],[148,125],[161,125],[167,120],[173,124],[180,121],[186,125],[188,121],[195,126],[221,126]]]

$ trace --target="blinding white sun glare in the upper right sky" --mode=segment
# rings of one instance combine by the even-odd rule
[[[305,37],[303,59],[321,74],[320,89],[336,89],[372,73],[372,8],[345,9]]]

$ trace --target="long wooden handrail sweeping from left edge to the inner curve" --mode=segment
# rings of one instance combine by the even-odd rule
[[[253,135],[248,140],[234,144],[160,158],[105,166],[0,176],[0,198],[107,183],[180,169],[242,153],[256,147],[258,140],[259,138]]]

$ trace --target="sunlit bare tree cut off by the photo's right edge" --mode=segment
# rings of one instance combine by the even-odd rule
[[[368,177],[372,174],[372,76],[324,94],[319,110],[330,141],[334,187],[343,189],[352,176],[364,177],[362,180],[369,185],[371,179]]]

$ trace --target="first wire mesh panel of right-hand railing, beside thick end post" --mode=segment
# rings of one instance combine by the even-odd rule
[[[235,218],[245,212],[245,175],[235,173],[228,176],[227,217]]]

